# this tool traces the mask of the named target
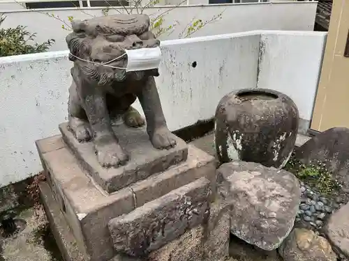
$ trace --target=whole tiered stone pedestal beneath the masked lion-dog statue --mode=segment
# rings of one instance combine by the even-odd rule
[[[211,206],[216,193],[214,157],[180,139],[172,150],[155,150],[144,129],[118,128],[121,145],[131,152],[131,161],[120,168],[101,168],[92,143],[75,142],[66,125],[60,125],[62,135],[36,142],[48,184],[45,191],[41,189],[45,209],[60,209],[77,251],[92,261],[119,255],[167,260],[156,257],[193,231],[202,231],[199,248],[210,242],[208,235],[216,233],[219,222],[209,223],[217,216],[223,219],[212,216],[216,213]],[[53,200],[47,200],[48,191]],[[53,224],[52,214],[47,216]],[[64,242],[62,235],[56,233],[57,241]],[[178,260],[195,261],[185,256]]]

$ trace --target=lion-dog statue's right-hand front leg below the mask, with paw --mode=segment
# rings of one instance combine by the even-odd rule
[[[166,124],[163,109],[154,77],[149,77],[145,86],[142,86],[138,99],[142,105],[145,118],[147,120],[147,132],[154,148],[169,149],[176,145],[174,134],[170,132]]]

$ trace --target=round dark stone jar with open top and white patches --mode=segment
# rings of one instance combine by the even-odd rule
[[[259,88],[229,93],[216,109],[218,159],[283,168],[295,147],[297,130],[298,109],[287,95]]]

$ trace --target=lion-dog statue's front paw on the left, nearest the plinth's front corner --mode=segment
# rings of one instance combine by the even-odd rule
[[[95,151],[99,163],[105,168],[125,165],[128,161],[126,152],[114,141],[103,145],[95,144]]]

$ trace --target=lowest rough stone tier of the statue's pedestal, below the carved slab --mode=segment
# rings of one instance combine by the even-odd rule
[[[77,248],[77,240],[47,183],[40,184],[40,196],[64,260],[88,261],[89,258],[84,257],[80,248]],[[210,205],[209,219],[206,223],[188,230],[181,237],[152,251],[147,258],[117,254],[108,261],[223,261],[228,256],[229,230],[229,216],[214,203]]]

